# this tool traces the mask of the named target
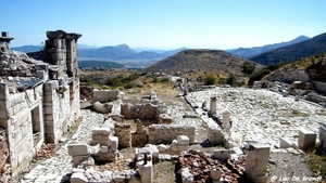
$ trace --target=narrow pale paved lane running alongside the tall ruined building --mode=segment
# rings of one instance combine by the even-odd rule
[[[49,158],[25,174],[21,182],[48,182],[60,183],[68,181],[66,174],[72,173],[73,164],[72,157],[67,154],[67,144],[85,143],[89,144],[91,140],[91,129],[101,127],[103,123],[103,115],[90,112],[89,109],[82,110],[83,120],[71,140],[67,141],[58,152],[57,156]]]

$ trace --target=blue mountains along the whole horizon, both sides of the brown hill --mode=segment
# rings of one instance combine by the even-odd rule
[[[35,52],[42,50],[43,45],[23,45],[13,48],[13,50],[23,52]],[[137,50],[137,51],[136,51]],[[78,61],[91,62],[83,65],[93,65],[101,62],[115,62],[126,68],[146,68],[159,61],[167,58],[180,51],[187,50],[180,48],[176,50],[138,50],[131,49],[127,44],[95,47],[78,44]],[[226,50],[234,55],[262,65],[269,65],[283,61],[296,61],[300,57],[306,57],[326,51],[326,34],[318,35],[314,38],[300,36],[288,42],[280,42],[254,48],[239,48]],[[98,62],[95,62],[98,61]],[[104,64],[100,64],[104,65]]]

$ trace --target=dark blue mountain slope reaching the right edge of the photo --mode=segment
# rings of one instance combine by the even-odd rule
[[[322,51],[326,51],[326,32],[302,42],[249,57],[249,60],[263,65],[271,65],[285,61],[298,61],[306,56],[317,55]]]

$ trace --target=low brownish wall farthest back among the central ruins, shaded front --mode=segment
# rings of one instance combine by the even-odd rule
[[[153,105],[150,103],[136,105],[124,103],[121,105],[121,114],[124,115],[127,119],[152,119],[158,118],[160,112],[158,105]]]

